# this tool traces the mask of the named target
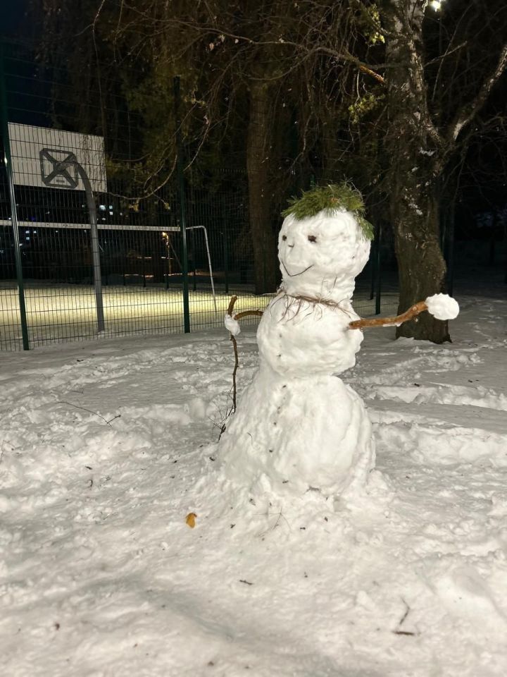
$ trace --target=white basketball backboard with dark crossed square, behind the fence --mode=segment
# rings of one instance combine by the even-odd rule
[[[14,183],[84,190],[79,163],[96,193],[106,193],[106,157],[101,136],[9,123]]]

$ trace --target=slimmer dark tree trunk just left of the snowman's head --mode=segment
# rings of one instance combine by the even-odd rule
[[[272,224],[270,170],[270,96],[268,85],[250,87],[250,118],[246,140],[246,169],[249,182],[249,221],[257,294],[276,291],[276,237]]]

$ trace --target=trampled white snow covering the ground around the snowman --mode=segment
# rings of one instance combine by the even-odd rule
[[[459,300],[452,344],[370,330],[344,374],[387,484],[356,510],[218,482],[225,331],[1,355],[0,674],[505,676],[507,301]]]

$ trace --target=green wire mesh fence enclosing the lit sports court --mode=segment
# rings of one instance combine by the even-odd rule
[[[180,166],[137,197],[125,181],[135,171],[125,102],[111,94],[105,111],[87,102],[100,109],[97,128],[83,123],[72,87],[64,68],[2,46],[0,349],[220,327],[232,293],[237,309],[265,306],[253,283],[244,171],[196,182]],[[354,299],[361,315],[380,312],[382,286],[382,305],[396,304],[387,230],[372,252]],[[392,271],[389,287],[382,269]]]

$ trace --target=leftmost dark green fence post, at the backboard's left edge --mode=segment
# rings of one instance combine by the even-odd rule
[[[16,279],[18,281],[18,298],[20,305],[21,336],[23,337],[23,350],[30,350],[28,338],[28,323],[25,304],[25,285],[23,283],[23,262],[21,260],[18,209],[15,203],[14,173],[11,156],[11,142],[8,135],[8,112],[7,112],[7,89],[4,68],[4,45],[0,44],[0,109],[1,109],[1,132],[4,138],[4,164],[7,173],[9,200],[11,202],[11,220],[14,237],[14,261]]]

